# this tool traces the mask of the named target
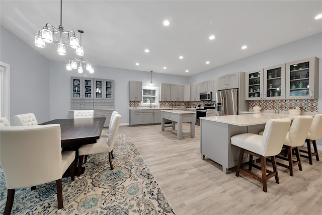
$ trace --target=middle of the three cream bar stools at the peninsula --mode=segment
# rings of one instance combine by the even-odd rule
[[[302,171],[302,164],[299,155],[298,147],[303,146],[305,138],[310,129],[313,117],[312,116],[297,116],[294,118],[292,125],[287,132],[284,140],[283,148],[287,152],[287,158],[278,155],[276,158],[288,161],[288,165],[276,162],[278,165],[288,168],[290,176],[293,176],[293,167],[298,165],[298,169]],[[296,161],[293,160],[293,152],[296,156]]]

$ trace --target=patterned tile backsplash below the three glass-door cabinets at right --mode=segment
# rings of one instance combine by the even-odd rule
[[[264,110],[288,110],[300,107],[301,110],[317,112],[317,99],[286,99],[286,100],[251,100],[250,109],[260,106]]]

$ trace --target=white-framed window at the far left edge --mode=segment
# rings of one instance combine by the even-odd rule
[[[0,116],[10,119],[9,96],[10,65],[0,61]]]

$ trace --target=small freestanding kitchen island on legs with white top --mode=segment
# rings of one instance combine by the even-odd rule
[[[195,137],[195,124],[196,124],[196,113],[191,111],[184,110],[162,110],[162,122],[161,128],[165,130],[165,123],[169,120],[172,121],[172,129],[176,129],[176,122],[178,124],[177,129],[177,138],[182,139],[182,123],[189,122],[190,123],[190,136],[192,138]]]

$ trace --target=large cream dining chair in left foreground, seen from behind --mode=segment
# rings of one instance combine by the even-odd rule
[[[63,207],[61,178],[69,168],[74,181],[75,151],[61,152],[60,125],[0,128],[0,152],[8,196],[4,214],[10,214],[15,189],[56,181],[58,209]],[[32,202],[31,202],[32,204]]]

